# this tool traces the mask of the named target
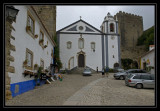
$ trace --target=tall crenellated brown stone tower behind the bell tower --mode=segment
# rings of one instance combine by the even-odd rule
[[[138,37],[143,34],[142,16],[119,11],[114,18],[118,19],[121,58],[137,59],[138,56],[145,53],[143,46],[136,46]]]

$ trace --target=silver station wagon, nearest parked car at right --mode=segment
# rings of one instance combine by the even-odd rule
[[[155,88],[155,75],[149,73],[131,74],[125,79],[127,86],[141,88]]]

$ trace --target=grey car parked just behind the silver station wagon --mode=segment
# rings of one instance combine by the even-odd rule
[[[129,70],[126,70],[126,71],[117,72],[113,75],[113,77],[115,79],[124,80],[125,77],[127,76],[127,74],[132,74],[132,73],[146,73],[146,71],[142,70],[142,69],[129,69]]]

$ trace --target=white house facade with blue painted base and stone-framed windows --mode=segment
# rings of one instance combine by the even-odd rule
[[[19,5],[14,7],[19,13],[16,22],[12,23],[11,36],[14,39],[10,40],[15,48],[15,51],[10,52],[14,59],[10,66],[14,71],[8,72],[12,97],[35,87],[34,74],[37,71],[35,66],[41,66],[45,70],[53,64],[56,45],[34,7]]]

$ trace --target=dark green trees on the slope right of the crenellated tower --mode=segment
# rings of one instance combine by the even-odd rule
[[[143,34],[138,38],[137,45],[145,45],[146,50],[149,50],[149,45],[154,44],[154,26],[147,29]]]

